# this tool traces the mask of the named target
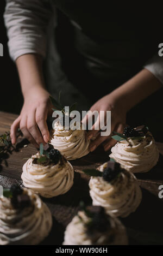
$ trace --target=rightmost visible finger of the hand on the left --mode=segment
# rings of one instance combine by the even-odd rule
[[[36,123],[37,126],[40,129],[40,132],[42,134],[43,140],[47,143],[49,141],[49,131],[47,127],[47,109],[46,105],[40,106],[40,108],[37,108],[36,110]]]

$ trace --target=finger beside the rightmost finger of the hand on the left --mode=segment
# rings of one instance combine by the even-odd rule
[[[32,111],[30,115],[28,115],[27,117],[27,129],[38,145],[40,145],[40,143],[45,144],[45,141],[43,140],[42,135],[39,131],[39,128],[37,127],[37,124],[36,124],[35,112],[36,110]]]

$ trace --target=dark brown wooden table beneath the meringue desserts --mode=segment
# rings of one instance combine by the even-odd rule
[[[0,112],[0,134],[9,131],[12,121],[16,115]],[[10,187],[13,183],[22,184],[21,173],[22,166],[27,159],[36,153],[36,149],[21,139],[18,144],[19,151],[13,152],[7,159],[8,166],[1,164],[0,184],[3,187]],[[23,147],[27,145],[27,147]],[[86,167],[97,167],[108,160],[108,154],[103,148],[98,148],[95,152],[73,160],[71,164],[74,167],[74,185],[64,195],[55,198],[42,200],[48,205],[53,215],[53,228],[49,236],[42,242],[42,245],[61,245],[64,239],[64,230],[78,211],[80,200],[86,204],[91,204],[89,196],[88,181],[89,177],[82,173]],[[160,155],[159,163],[146,174],[137,174],[142,188],[143,199],[141,205],[135,213],[129,217],[121,219],[127,228],[130,244],[163,245],[163,199],[159,199],[159,185],[163,184],[163,157]]]

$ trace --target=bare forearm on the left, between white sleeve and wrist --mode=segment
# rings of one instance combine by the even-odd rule
[[[42,57],[37,54],[26,54],[16,59],[23,97],[34,88],[45,88],[42,72]]]

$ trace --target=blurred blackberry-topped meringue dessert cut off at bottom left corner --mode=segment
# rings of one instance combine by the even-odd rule
[[[38,245],[51,228],[51,212],[32,190],[12,185],[7,195],[4,192],[0,198],[0,245]]]

